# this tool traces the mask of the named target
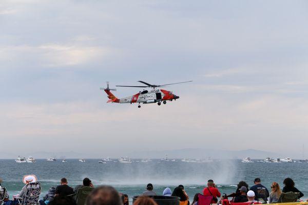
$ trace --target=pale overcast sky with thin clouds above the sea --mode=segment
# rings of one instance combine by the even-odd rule
[[[306,1],[3,0],[1,150],[307,157],[307,22]],[[106,81],[137,80],[194,81],[166,105],[106,104]]]

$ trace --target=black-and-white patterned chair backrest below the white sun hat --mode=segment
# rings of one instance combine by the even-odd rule
[[[41,192],[42,186],[40,182],[28,183],[25,188],[22,205],[38,204],[38,198]]]

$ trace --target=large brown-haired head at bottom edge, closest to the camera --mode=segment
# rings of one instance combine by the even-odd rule
[[[122,205],[120,194],[110,186],[95,188],[87,197],[87,205]]]

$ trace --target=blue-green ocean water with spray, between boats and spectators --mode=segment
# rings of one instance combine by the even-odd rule
[[[78,159],[46,161],[38,159],[36,163],[16,163],[13,159],[0,160],[0,178],[2,186],[6,187],[10,198],[18,194],[24,184],[22,178],[26,174],[35,174],[42,183],[43,196],[51,186],[60,184],[62,177],[67,178],[69,186],[82,184],[88,177],[95,187],[111,185],[121,193],[132,196],[145,191],[147,183],[152,183],[154,191],[162,194],[166,187],[173,190],[178,185],[184,185],[190,200],[196,193],[202,193],[208,179],[213,179],[221,193],[235,192],[240,180],[253,186],[256,177],[261,178],[262,184],[270,190],[271,183],[276,181],[283,187],[283,179],[291,177],[295,186],[303,192],[304,199],[308,198],[308,163],[242,163],[240,160],[215,160],[208,163],[159,162],[152,159],[147,163],[136,162],[119,163],[113,161],[106,164],[99,163],[99,159]]]

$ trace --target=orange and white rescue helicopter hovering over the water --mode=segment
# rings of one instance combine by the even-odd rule
[[[157,103],[157,105],[160,106],[161,102],[163,102],[163,104],[166,104],[167,100],[172,101],[179,99],[180,97],[178,95],[173,94],[171,91],[157,89],[157,88],[174,84],[188,83],[191,81],[192,80],[180,83],[164,84],[164,85],[151,85],[144,81],[138,81],[140,83],[145,84],[146,86],[117,86],[117,87],[132,87],[132,88],[152,88],[151,90],[143,90],[137,94],[124,98],[117,98],[110,92],[110,90],[116,91],[116,89],[110,89],[109,82],[107,82],[107,88],[101,88],[101,90],[104,90],[108,95],[109,100],[107,101],[107,103],[130,103],[130,104],[138,103],[138,108],[141,108],[140,106],[141,103],[142,104]]]

